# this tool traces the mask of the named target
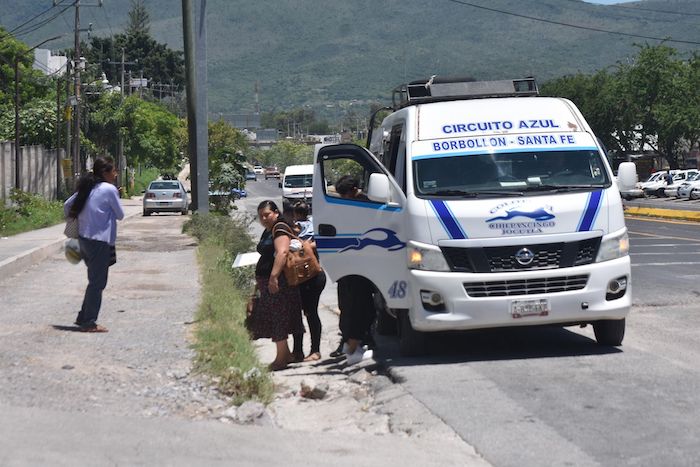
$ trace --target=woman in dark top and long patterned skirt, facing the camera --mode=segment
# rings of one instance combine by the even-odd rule
[[[255,266],[255,297],[248,304],[248,330],[253,339],[269,337],[275,343],[277,355],[270,370],[278,371],[292,362],[289,335],[304,332],[299,290],[288,286],[282,273],[294,233],[273,201],[258,205],[258,219],[265,231],[257,246],[260,259]]]

